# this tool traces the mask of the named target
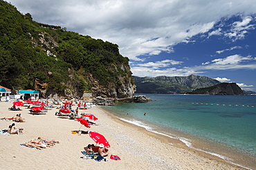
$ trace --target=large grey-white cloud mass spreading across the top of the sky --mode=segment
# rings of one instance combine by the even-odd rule
[[[153,0],[9,0],[18,10],[32,14],[35,21],[60,25],[62,28],[116,43],[120,54],[141,61],[137,56],[173,52],[172,45],[193,42],[196,34],[208,32],[222,17],[255,13],[252,0],[223,3],[212,1]],[[226,36],[241,39],[250,25],[244,17],[232,25]],[[220,35],[221,29],[211,35]],[[157,39],[154,39],[157,37]]]

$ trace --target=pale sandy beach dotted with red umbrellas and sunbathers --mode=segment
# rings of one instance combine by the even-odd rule
[[[26,107],[20,107],[22,111],[8,110],[11,106],[10,102],[0,102],[0,118],[21,113],[26,122],[15,123],[15,127],[24,128],[24,134],[0,134],[0,169],[243,169],[221,158],[189,149],[179,141],[159,138],[141,127],[114,118],[99,107],[79,110],[79,114],[98,117],[95,121],[98,126],[86,128],[75,120],[57,118],[55,108],[45,115],[32,115]],[[12,123],[0,120],[0,129],[8,129]],[[107,138],[111,145],[109,156],[113,154],[121,160],[111,160],[109,156],[107,162],[81,159],[83,148],[95,142],[88,134],[71,134],[80,127],[83,131],[97,131]],[[39,136],[58,140],[60,144],[42,150],[20,145]]]

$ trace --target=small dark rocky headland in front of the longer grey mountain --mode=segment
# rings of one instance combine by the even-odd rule
[[[190,94],[244,95],[244,92],[236,83],[219,83],[211,87],[196,89]]]

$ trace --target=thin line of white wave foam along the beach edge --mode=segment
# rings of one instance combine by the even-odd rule
[[[149,127],[149,126],[146,125],[145,123],[142,123],[142,122],[140,122],[140,121],[138,121],[138,120],[127,120],[127,119],[125,119],[125,118],[120,118],[120,120],[123,120],[123,121],[125,121],[125,122],[127,122],[127,123],[131,123],[131,124],[136,125],[136,126],[138,126],[138,127],[143,127],[143,128],[145,128],[147,131],[153,132],[153,133],[155,133],[155,134],[160,134],[160,135],[163,135],[163,136],[167,136],[168,138],[178,139],[178,140],[180,140],[181,142],[183,142],[187,147],[190,147],[190,148],[195,149],[195,150],[197,150],[197,151],[202,151],[202,152],[204,152],[204,153],[208,153],[208,154],[210,154],[210,155],[212,155],[212,156],[217,156],[217,157],[219,157],[219,158],[221,158],[221,159],[223,159],[223,160],[226,160],[226,162],[229,162],[229,163],[231,163],[231,164],[235,164],[236,166],[239,166],[239,167],[243,167],[244,169],[253,170],[253,169],[250,169],[250,168],[248,168],[248,167],[244,167],[244,166],[242,166],[241,164],[236,164],[235,162],[232,162],[232,159],[230,159],[230,158],[228,158],[228,157],[226,157],[226,156],[221,156],[221,155],[218,154],[218,153],[213,153],[213,152],[210,152],[210,151],[204,151],[203,149],[198,149],[198,148],[196,148],[196,147],[193,147],[193,146],[192,146],[192,143],[191,143],[190,140],[187,139],[187,138],[174,137],[174,136],[170,136],[170,135],[167,135],[167,134],[163,134],[163,133],[158,132],[158,131],[154,131],[154,130],[152,129],[152,127]]]

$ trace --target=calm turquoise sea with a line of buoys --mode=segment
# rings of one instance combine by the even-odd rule
[[[256,96],[138,95],[152,101],[101,108],[158,136],[256,169]]]

